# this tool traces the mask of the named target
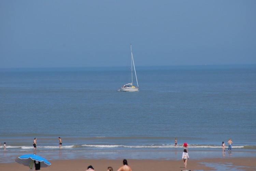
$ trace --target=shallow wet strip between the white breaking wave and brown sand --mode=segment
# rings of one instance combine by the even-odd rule
[[[183,150],[26,150],[26,151],[0,151],[0,163],[15,163],[15,158],[24,154],[35,154],[46,158],[47,160],[73,160],[73,159],[109,159],[117,160],[120,158],[146,159],[146,160],[180,160]],[[202,160],[207,158],[246,158],[255,157],[256,150],[234,150],[232,153],[222,150],[211,149],[189,149],[189,156],[193,160]]]

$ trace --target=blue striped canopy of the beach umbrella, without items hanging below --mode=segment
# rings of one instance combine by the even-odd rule
[[[19,156],[15,159],[15,161],[19,164],[23,164],[24,166],[29,166],[31,160],[40,161],[41,167],[48,167],[51,165],[51,163],[46,160],[45,158],[34,155],[34,154],[25,154],[23,156]]]

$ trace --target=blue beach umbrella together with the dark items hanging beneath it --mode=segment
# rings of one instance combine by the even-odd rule
[[[15,159],[15,161],[19,164],[23,164],[24,166],[28,166],[30,169],[33,168],[34,170],[34,164],[35,164],[35,170],[38,170],[37,167],[48,167],[51,165],[51,163],[46,160],[45,158],[34,155],[34,154],[25,154],[22,156],[19,156]]]

